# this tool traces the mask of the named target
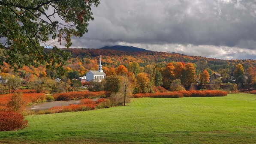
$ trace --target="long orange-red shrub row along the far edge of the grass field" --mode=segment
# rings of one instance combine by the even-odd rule
[[[180,97],[213,97],[227,96],[227,92],[220,90],[189,90],[177,91],[169,93],[136,93],[134,98],[154,97],[154,98],[180,98]]]

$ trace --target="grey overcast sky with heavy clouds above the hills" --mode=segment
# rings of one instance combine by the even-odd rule
[[[72,48],[132,45],[221,59],[256,59],[256,0],[101,0]]]

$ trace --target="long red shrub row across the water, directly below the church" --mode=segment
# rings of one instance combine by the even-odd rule
[[[57,93],[57,94],[54,94],[53,97],[55,100],[69,101],[69,100],[75,100],[75,99],[106,97],[109,95],[110,93],[108,91],[99,91],[99,92],[74,91],[74,92],[68,92],[68,93]]]

